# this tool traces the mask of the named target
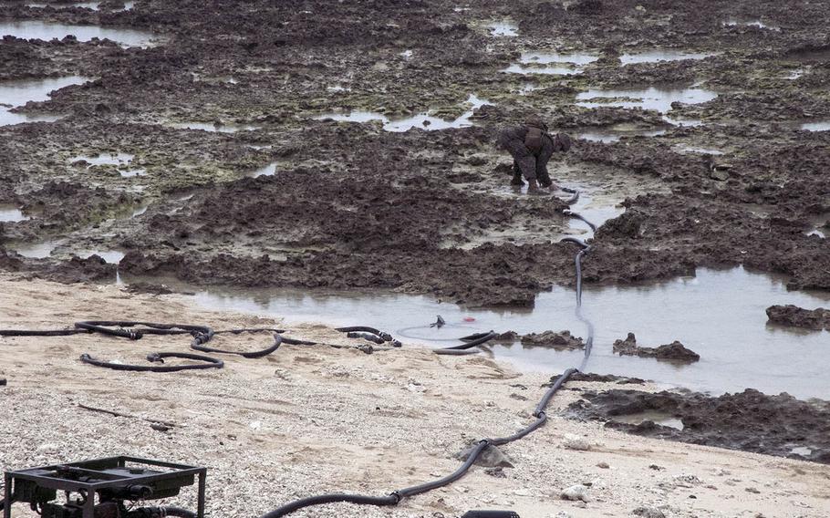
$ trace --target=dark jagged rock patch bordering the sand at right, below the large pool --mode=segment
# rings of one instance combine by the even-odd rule
[[[830,464],[830,406],[786,393],[747,389],[712,398],[697,392],[586,390],[566,415],[644,437]]]

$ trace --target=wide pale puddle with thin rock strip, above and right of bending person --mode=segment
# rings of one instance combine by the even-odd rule
[[[584,108],[603,106],[617,108],[653,109],[668,113],[671,104],[701,104],[717,98],[718,94],[704,88],[646,88],[643,90],[589,89],[576,96],[576,105]]]

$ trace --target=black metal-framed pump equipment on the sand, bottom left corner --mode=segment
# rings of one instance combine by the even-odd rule
[[[165,468],[169,471],[153,471],[135,469],[127,463],[140,464],[154,468]],[[72,480],[61,477],[61,473],[72,473],[86,481]],[[37,488],[48,491],[80,492],[87,495],[83,507],[83,518],[95,517],[95,495],[101,490],[124,488],[131,485],[153,486],[161,482],[168,488],[181,488],[192,485],[193,477],[199,477],[199,496],[197,518],[204,518],[204,493],[207,468],[197,468],[184,464],[165,461],[152,461],[138,457],[108,457],[92,461],[71,462],[57,464],[43,468],[32,468],[21,471],[7,471],[5,473],[5,509],[4,518],[12,517],[12,495],[16,495],[17,485],[34,483]],[[26,484],[26,482],[31,482]]]

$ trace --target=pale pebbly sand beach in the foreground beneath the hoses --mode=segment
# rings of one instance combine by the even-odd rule
[[[92,316],[209,323],[215,328],[269,326],[275,321],[196,310],[181,295],[129,295],[96,287],[0,280],[0,326],[54,327]],[[19,301],[36,301],[21,306]],[[345,344],[324,326],[292,325],[296,337]],[[223,347],[252,349],[264,337],[234,337]],[[530,419],[548,376],[521,374],[485,357],[436,357],[419,349],[366,355],[330,347],[281,347],[270,357],[225,357],[222,370],[152,375],[78,362],[83,352],[142,361],[150,351],[186,350],[185,341],[145,337],[121,342],[98,336],[3,338],[0,388],[3,467],[75,461],[113,452],[210,467],[208,512],[265,513],[317,492],[385,494],[434,480],[457,467],[466,440],[513,431]],[[175,383],[177,390],[171,390]],[[54,388],[56,387],[57,388]],[[615,381],[579,381],[601,390]],[[638,390],[656,387],[637,385]],[[512,509],[522,516],[566,513],[628,516],[643,506],[666,516],[755,515],[819,518],[830,512],[825,465],[727,451],[609,430],[556,414],[582,392],[554,399],[548,425],[505,448],[514,468],[475,467],[450,488],[408,499],[396,509],[340,504],[297,516],[461,515]],[[37,405],[31,401],[36,400]],[[152,430],[144,420],[113,418],[78,404],[174,422]],[[553,469],[555,467],[555,469]],[[496,476],[494,476],[496,475]],[[559,494],[587,484],[588,502]],[[254,495],[257,495],[254,497]],[[695,498],[691,498],[694,496]],[[189,493],[167,501],[192,506]],[[16,515],[28,516],[22,507]],[[18,514],[19,513],[19,514]]]

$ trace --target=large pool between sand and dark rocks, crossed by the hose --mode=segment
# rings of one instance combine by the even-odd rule
[[[195,291],[192,286],[187,289]],[[602,374],[650,378],[715,393],[758,388],[770,394],[787,391],[799,398],[830,399],[830,333],[798,332],[767,325],[765,310],[775,304],[808,309],[827,306],[830,295],[788,292],[781,279],[751,274],[743,268],[698,270],[692,278],[652,285],[586,286],[584,309],[597,326],[596,346],[588,369]],[[532,311],[467,309],[440,304],[429,296],[389,293],[299,292],[294,290],[198,291],[196,302],[214,309],[231,309],[285,317],[288,324],[366,325],[407,333],[405,342],[461,337],[475,330],[514,330],[519,333],[569,329],[585,336],[574,316],[572,289],[556,286],[539,295]],[[450,326],[430,328],[441,315]],[[465,317],[475,321],[462,324]],[[457,324],[458,326],[453,326]],[[638,344],[659,346],[680,340],[700,354],[690,366],[652,358],[619,357],[611,346],[628,332]],[[521,344],[494,345],[497,358],[518,368],[556,373],[578,365],[582,351],[554,351]]]

